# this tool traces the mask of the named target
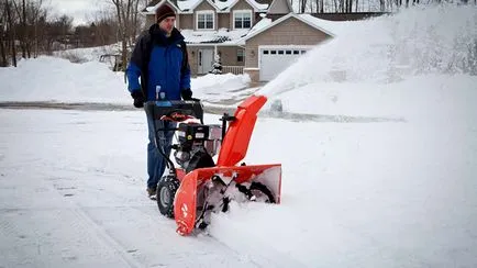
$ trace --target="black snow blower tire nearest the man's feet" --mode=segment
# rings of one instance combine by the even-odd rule
[[[180,181],[170,175],[164,176],[157,183],[157,208],[160,214],[174,219],[174,200]]]

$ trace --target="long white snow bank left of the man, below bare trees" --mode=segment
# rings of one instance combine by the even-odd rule
[[[0,69],[0,101],[130,103],[123,77],[98,62],[71,64],[41,56]]]

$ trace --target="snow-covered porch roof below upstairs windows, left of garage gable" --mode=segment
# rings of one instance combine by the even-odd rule
[[[226,29],[219,29],[219,31],[192,31],[182,30],[180,33],[186,38],[188,44],[211,44],[220,43],[221,45],[244,45],[245,42],[242,40],[248,30],[234,30],[228,31]]]

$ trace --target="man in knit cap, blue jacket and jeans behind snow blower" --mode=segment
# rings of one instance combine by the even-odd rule
[[[156,10],[156,23],[137,41],[126,68],[129,91],[135,108],[143,108],[145,101],[156,99],[190,100],[190,68],[184,36],[174,26],[174,10],[162,4]],[[141,78],[141,85],[138,79]],[[158,149],[170,154],[174,132],[157,132],[159,144],[155,145],[155,127],[173,129],[175,123],[154,120],[146,110],[147,144],[147,194],[154,199],[157,183],[166,168],[166,159]]]

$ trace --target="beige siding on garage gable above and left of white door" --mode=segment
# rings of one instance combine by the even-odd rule
[[[258,67],[259,45],[317,45],[329,37],[330,35],[291,16],[246,41],[245,67]]]

